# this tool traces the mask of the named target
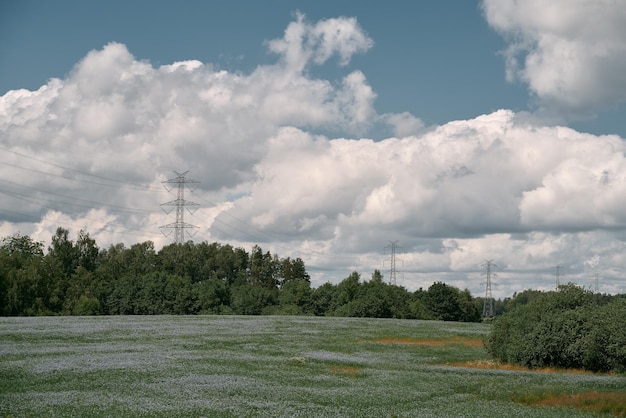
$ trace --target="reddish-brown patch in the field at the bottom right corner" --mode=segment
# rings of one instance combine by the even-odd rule
[[[582,411],[626,417],[626,395],[616,392],[585,392],[575,395],[541,394],[515,399],[526,405],[561,406]]]

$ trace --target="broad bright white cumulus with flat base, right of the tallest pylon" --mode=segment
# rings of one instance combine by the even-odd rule
[[[285,128],[268,146],[250,196],[237,204],[260,228],[310,229],[319,214],[339,230],[379,236],[626,225],[621,138],[527,125],[511,111],[379,142]]]

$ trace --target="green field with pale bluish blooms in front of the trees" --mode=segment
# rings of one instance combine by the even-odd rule
[[[488,332],[362,318],[0,318],[0,416],[582,417],[600,407],[564,400],[623,403],[624,376],[459,366],[488,364]]]

